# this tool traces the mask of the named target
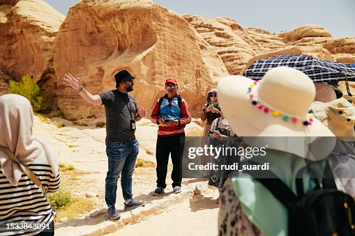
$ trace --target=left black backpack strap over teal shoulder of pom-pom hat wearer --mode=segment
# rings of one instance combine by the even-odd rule
[[[256,162],[252,162],[248,160],[250,164],[258,164]],[[285,182],[280,180],[275,173],[269,170],[263,170],[262,173],[263,175],[266,173],[268,178],[257,178],[257,172],[258,171],[249,171],[249,170],[244,170],[243,172],[248,173],[250,176],[255,178],[258,182],[264,185],[266,189],[268,189],[273,196],[280,201],[285,207],[289,207],[289,205],[292,205],[292,203],[295,203],[296,200],[298,199],[297,196],[294,194],[294,192],[287,187]]]

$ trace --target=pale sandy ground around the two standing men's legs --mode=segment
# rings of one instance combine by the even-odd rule
[[[59,120],[65,127],[57,127],[53,120]],[[154,201],[167,198],[172,194],[172,187],[169,184],[171,164],[167,174],[168,187],[165,196],[153,196],[156,188],[155,170],[155,145],[156,125],[150,120],[143,119],[137,125],[136,137],[139,141],[138,158],[151,162],[149,167],[136,168],[133,175],[133,194],[137,200]],[[196,124],[187,127],[187,133],[192,135],[202,132],[202,128]],[[33,136],[49,143],[56,150],[59,162],[66,165],[73,165],[75,170],[81,171],[80,178],[66,180],[70,184],[70,190],[75,196],[90,195],[96,201],[96,206],[91,212],[82,214],[72,221],[58,223],[56,235],[68,235],[67,228],[75,230],[75,227],[91,228],[100,227],[100,223],[108,221],[105,205],[105,176],[107,171],[107,157],[105,154],[105,128],[77,126],[68,120],[54,118],[52,121],[43,122],[35,117]],[[195,180],[183,180],[183,187]],[[197,180],[196,180],[197,181]],[[206,181],[200,181],[204,184]],[[165,212],[146,217],[133,225],[126,225],[111,235],[216,235],[218,221],[218,204],[215,199],[218,197],[217,189],[204,188],[201,194],[191,195],[180,203],[172,205]],[[119,183],[117,191],[116,207],[123,212],[123,198]],[[99,212],[100,217],[90,218],[89,222],[84,220],[93,212]]]

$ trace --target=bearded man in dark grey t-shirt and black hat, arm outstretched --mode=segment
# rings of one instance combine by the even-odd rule
[[[63,83],[77,89],[86,102],[94,105],[104,105],[106,112],[106,155],[108,171],[105,180],[105,201],[108,206],[107,214],[110,219],[121,216],[114,206],[119,175],[125,200],[124,210],[133,210],[144,205],[144,201],[133,199],[132,175],[138,155],[138,141],[135,139],[135,122],[146,116],[146,109],[137,106],[135,97],[128,95],[135,84],[127,70],[121,70],[114,75],[116,90],[92,95],[82,86],[79,78],[65,74]]]

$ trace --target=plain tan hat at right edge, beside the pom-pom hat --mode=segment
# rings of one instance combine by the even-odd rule
[[[355,107],[344,97],[331,102],[313,102],[312,111],[338,139],[355,141]]]

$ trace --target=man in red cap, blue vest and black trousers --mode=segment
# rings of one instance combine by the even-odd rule
[[[156,142],[157,188],[154,191],[155,196],[163,194],[165,187],[167,187],[165,178],[169,154],[172,157],[173,164],[172,187],[175,194],[181,192],[184,128],[191,122],[191,116],[188,104],[177,95],[177,90],[176,79],[166,79],[166,94],[156,102],[156,106],[151,113],[151,121],[159,125]]]

